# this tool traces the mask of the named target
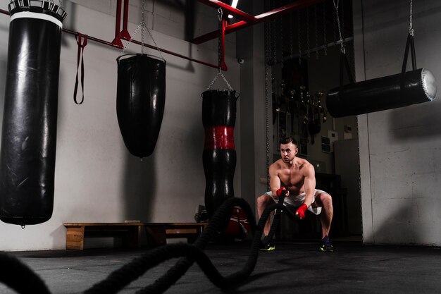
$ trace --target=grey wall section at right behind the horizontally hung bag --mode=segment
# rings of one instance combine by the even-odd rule
[[[417,66],[439,85],[441,3],[413,11]],[[409,1],[354,1],[357,80],[401,71],[408,26]],[[441,245],[440,108],[438,98],[359,116],[365,243]]]

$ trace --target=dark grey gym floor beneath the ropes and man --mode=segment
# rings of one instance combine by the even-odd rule
[[[439,247],[364,246],[335,243],[335,252],[320,252],[316,242],[278,242],[259,252],[251,276],[228,293],[441,293]],[[204,252],[222,274],[241,269],[250,243],[210,244]],[[88,249],[10,252],[37,273],[54,294],[82,293],[148,249]],[[120,291],[135,293],[153,283],[178,259],[151,269]],[[15,293],[0,286],[0,293]],[[166,293],[223,293],[197,265]]]

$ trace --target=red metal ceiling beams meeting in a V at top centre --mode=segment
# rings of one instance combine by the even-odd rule
[[[199,2],[209,5],[211,7],[219,8],[222,7],[228,13],[230,13],[232,16],[236,16],[237,18],[241,19],[242,21],[239,21],[237,23],[233,23],[232,25],[227,25],[225,27],[225,34],[229,34],[230,32],[235,32],[237,30],[243,29],[245,27],[250,27],[251,25],[256,25],[257,23],[263,23],[266,20],[271,20],[273,18],[277,18],[279,16],[282,16],[286,13],[290,13],[292,11],[297,11],[302,8],[306,8],[308,6],[318,4],[320,2],[323,2],[324,0],[298,0],[291,4],[287,4],[284,6],[281,6],[279,8],[275,8],[271,11],[267,11],[266,13],[259,14],[259,16],[250,16],[248,13],[245,13],[243,11],[240,11],[239,9],[232,8],[228,4],[224,4],[221,1],[217,0],[199,0]],[[205,35],[201,35],[199,37],[196,37],[190,42],[194,44],[201,44],[206,41],[209,41],[211,39],[215,39],[218,37],[218,31],[209,32]]]

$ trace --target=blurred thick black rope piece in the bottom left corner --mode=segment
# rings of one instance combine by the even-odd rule
[[[50,294],[42,279],[17,257],[0,253],[0,282],[20,294]]]

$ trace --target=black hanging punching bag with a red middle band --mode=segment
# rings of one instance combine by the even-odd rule
[[[235,195],[234,127],[238,95],[234,90],[207,90],[202,93],[202,98],[202,124],[205,128],[205,206],[210,218],[228,197]]]

